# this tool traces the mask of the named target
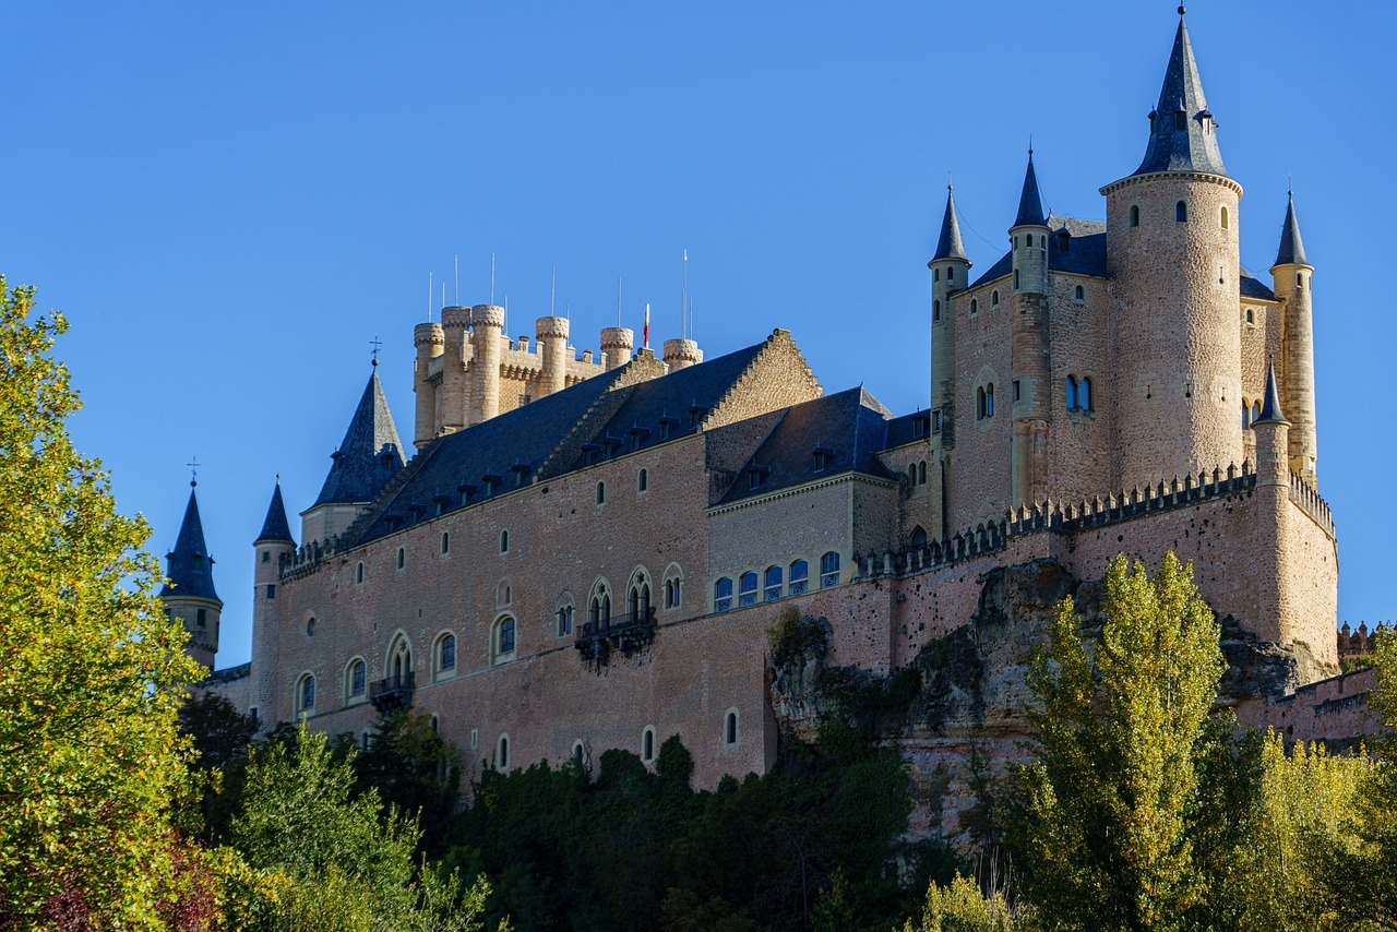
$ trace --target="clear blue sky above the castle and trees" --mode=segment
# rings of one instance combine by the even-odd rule
[[[1393,609],[1397,345],[1384,89],[1390,4],[1189,13],[1243,263],[1263,281],[1294,176],[1316,264],[1319,472],[1340,618]],[[509,295],[532,335],[570,307],[597,347],[654,305],[678,335],[680,254],[712,356],[787,327],[827,391],[928,400],[926,259],[956,173],[977,268],[999,256],[1030,134],[1052,210],[1101,218],[1134,169],[1173,3],[13,4],[0,271],[71,323],[80,447],[175,542],[191,456],[247,658],[251,539],[274,476],[316,496],[369,376],[412,432],[427,274]],[[1363,298],[1363,295],[1368,298]],[[440,291],[433,298],[440,305]],[[299,530],[299,528],[298,528]]]

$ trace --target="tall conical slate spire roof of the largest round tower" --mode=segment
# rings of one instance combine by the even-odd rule
[[[1183,115],[1183,129],[1175,129],[1176,115]],[[1204,126],[1213,122],[1211,131]],[[1193,59],[1189,29],[1179,17],[1179,31],[1173,36],[1173,52],[1164,71],[1160,103],[1150,113],[1150,144],[1133,175],[1151,172],[1208,172],[1227,175],[1222,152],[1218,150],[1217,120],[1208,112],[1203,96],[1203,81]]]

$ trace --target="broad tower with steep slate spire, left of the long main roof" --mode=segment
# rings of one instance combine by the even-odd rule
[[[496,377],[497,363],[496,358]],[[388,411],[383,383],[379,381],[377,359],[345,437],[331,458],[334,463],[316,503],[300,513],[300,539],[306,544],[344,534],[359,511],[405,465],[398,428],[393,423],[393,412]]]

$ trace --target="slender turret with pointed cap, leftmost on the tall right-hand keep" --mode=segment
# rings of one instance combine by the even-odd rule
[[[956,446],[956,312],[951,298],[970,284],[970,260],[956,221],[956,193],[946,186],[946,214],[936,252],[926,267],[932,270],[932,447],[936,468],[932,474],[933,502],[940,511],[940,537],[949,534],[946,483],[947,451]]]

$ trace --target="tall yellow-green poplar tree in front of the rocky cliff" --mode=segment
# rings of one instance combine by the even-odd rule
[[[1221,739],[1206,725],[1224,662],[1192,577],[1172,552],[1154,581],[1116,558],[1092,650],[1067,597],[1031,665],[1041,756],[1018,770],[1014,836],[1048,928],[1172,929],[1207,900],[1196,838],[1218,813],[1199,774]]]

